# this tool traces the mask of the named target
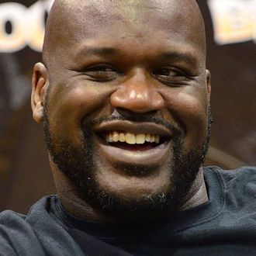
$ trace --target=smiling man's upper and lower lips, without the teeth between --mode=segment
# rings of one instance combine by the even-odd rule
[[[167,128],[154,123],[133,123],[130,121],[109,121],[95,126],[95,133],[106,133],[113,130],[123,130],[129,133],[150,133],[161,137],[171,138],[171,132]],[[150,150],[125,150],[107,144],[105,140],[97,136],[99,150],[106,159],[114,164],[129,164],[133,166],[160,165],[168,157],[170,140],[153,147]]]

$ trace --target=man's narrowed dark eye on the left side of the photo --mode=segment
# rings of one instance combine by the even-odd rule
[[[83,73],[88,75],[93,81],[111,81],[120,74],[116,67],[112,67],[109,64],[98,64],[88,67]]]

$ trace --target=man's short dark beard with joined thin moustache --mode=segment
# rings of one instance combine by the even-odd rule
[[[209,137],[211,130],[211,112],[209,108],[208,133],[202,145],[183,152],[184,133],[177,126],[167,123],[162,119],[145,118],[141,121],[157,123],[165,126],[173,137],[171,139],[172,154],[168,159],[165,168],[170,173],[170,185],[168,189],[144,195],[134,199],[117,195],[115,192],[109,192],[104,189],[95,178],[97,156],[94,154],[95,145],[93,144],[92,127],[105,121],[111,121],[119,118],[92,119],[87,120],[85,126],[81,128],[81,146],[72,145],[69,140],[54,140],[50,133],[50,123],[47,115],[47,105],[44,108],[43,135],[47,145],[50,157],[57,165],[57,168],[72,182],[78,190],[78,196],[107,216],[111,216],[117,221],[122,222],[150,222],[160,220],[177,212],[185,203],[192,188],[195,178],[202,166],[204,157],[209,147]],[[155,170],[156,167],[141,166],[116,166],[122,168],[127,175],[147,175]]]

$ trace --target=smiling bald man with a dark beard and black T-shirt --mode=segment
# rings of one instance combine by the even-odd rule
[[[202,168],[210,90],[196,2],[56,1],[31,103],[57,195],[2,213],[2,254],[255,254],[255,168]]]

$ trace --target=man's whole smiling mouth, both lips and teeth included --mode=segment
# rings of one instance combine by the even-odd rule
[[[166,160],[174,134],[157,123],[111,120],[93,127],[99,154],[111,164],[155,166]]]

